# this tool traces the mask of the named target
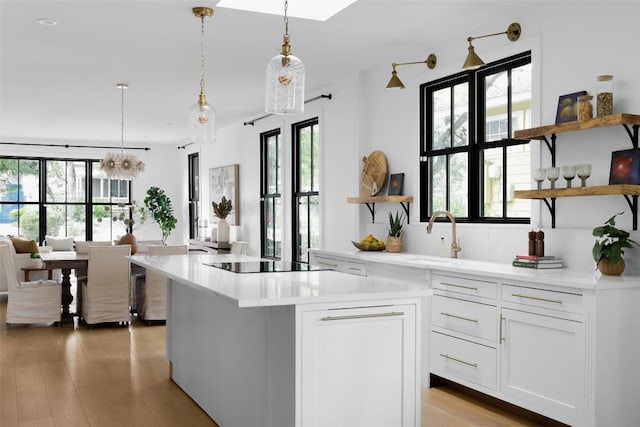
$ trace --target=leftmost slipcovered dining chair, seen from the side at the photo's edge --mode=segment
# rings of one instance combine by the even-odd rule
[[[8,284],[7,324],[60,322],[62,287],[56,280],[18,282],[10,248],[0,244],[0,274]]]

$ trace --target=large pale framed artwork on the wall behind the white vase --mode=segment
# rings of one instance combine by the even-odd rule
[[[209,169],[209,222],[218,222],[213,214],[211,202],[220,202],[222,196],[231,200],[231,213],[227,217],[230,225],[240,225],[239,165]]]

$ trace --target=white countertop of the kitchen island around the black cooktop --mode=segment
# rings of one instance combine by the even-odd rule
[[[245,255],[134,255],[131,262],[166,274],[187,286],[228,298],[238,307],[259,307],[431,295],[425,283],[363,277],[336,271],[232,273],[205,265],[256,261]]]

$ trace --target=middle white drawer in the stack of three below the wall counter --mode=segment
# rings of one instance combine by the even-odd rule
[[[431,299],[431,323],[434,326],[495,341],[498,313],[496,307],[434,295]]]

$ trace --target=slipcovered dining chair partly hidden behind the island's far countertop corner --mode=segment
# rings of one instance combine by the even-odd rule
[[[149,256],[187,255],[187,245],[149,246]],[[137,282],[138,318],[147,322],[167,320],[167,276],[148,270]]]

